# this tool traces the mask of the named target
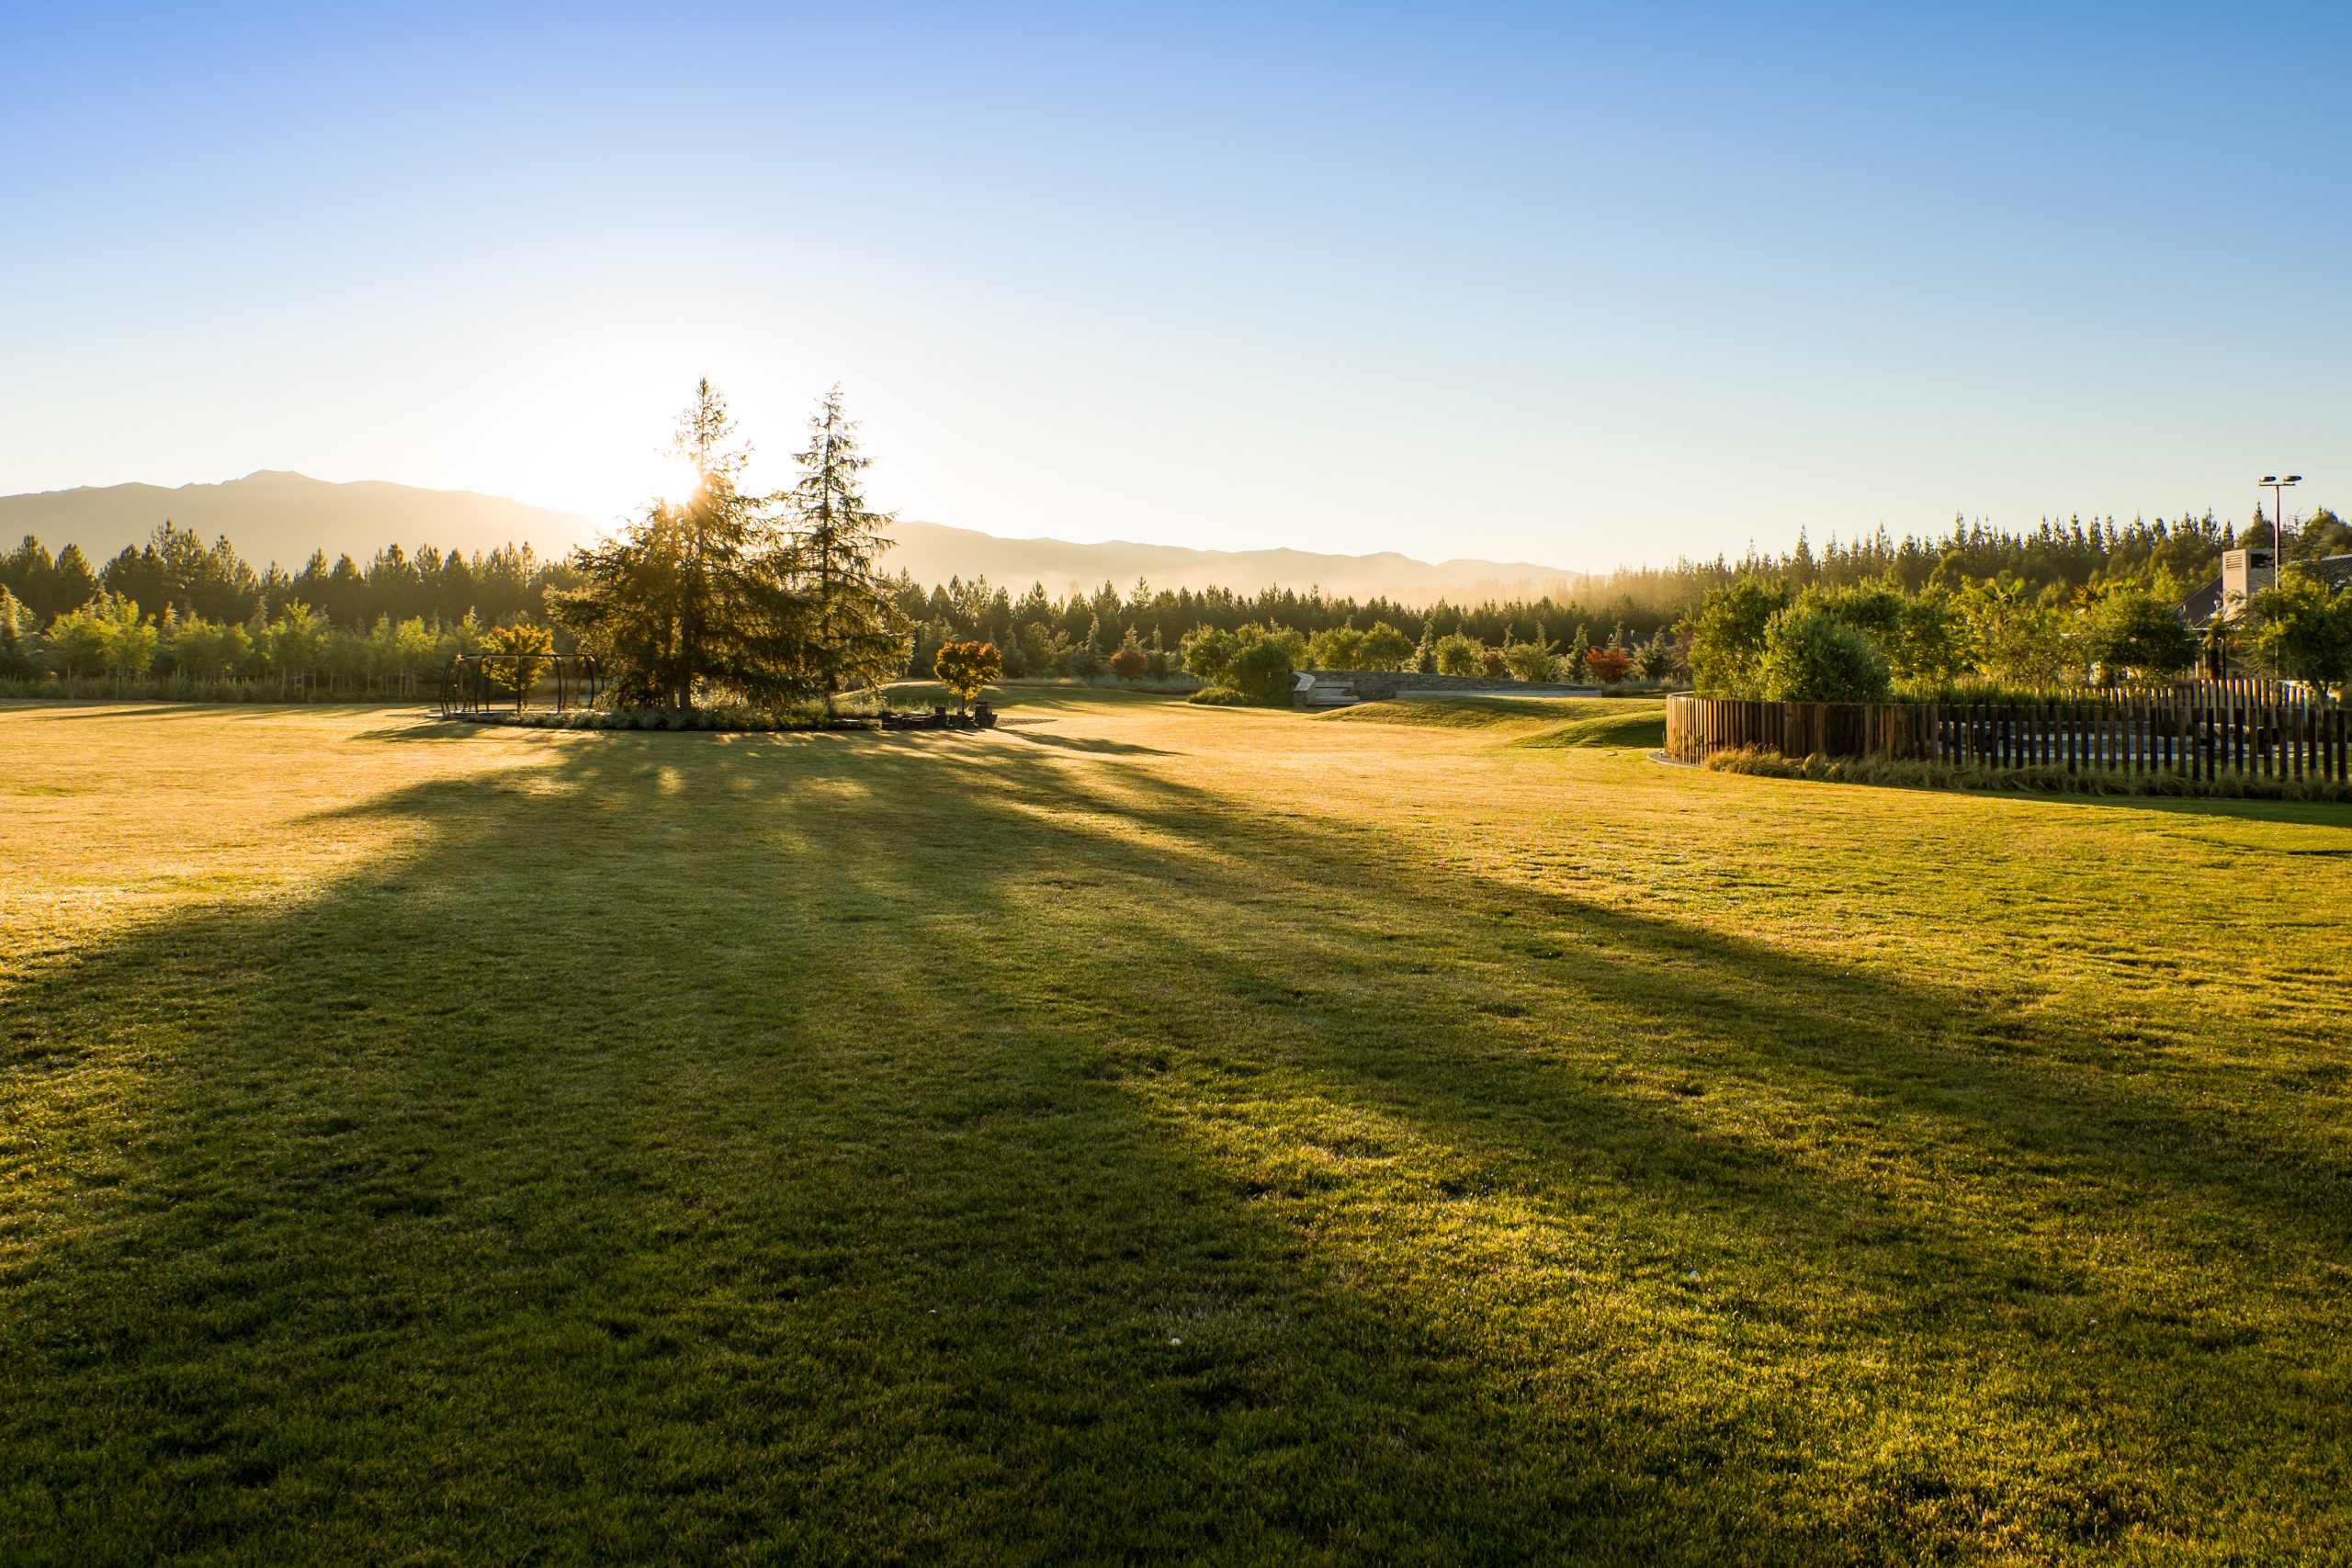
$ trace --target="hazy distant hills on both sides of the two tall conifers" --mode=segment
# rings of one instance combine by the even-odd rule
[[[541,555],[562,555],[588,543],[597,527],[576,512],[477,496],[461,489],[416,489],[362,480],[329,484],[299,473],[252,473],[223,484],[108,484],[103,489],[52,489],[33,496],[0,496],[0,550],[38,534],[49,550],[82,545],[92,567],[122,545],[146,543],[165,520],[212,541],[221,534],[238,555],[263,567],[280,562],[299,571],[313,550],[327,559],[353,555],[365,562],[379,548],[400,543],[442,550],[492,550],[529,543]],[[997,538],[938,522],[898,522],[898,548],[884,557],[889,571],[906,569],[920,583],[950,576],[990,583],[1016,595],[1030,583],[1063,595],[1112,583],[1120,592],[1145,578],[1152,588],[1322,588],[1359,599],[1385,595],[1406,604],[1435,599],[1475,602],[1541,597],[1573,588],[1581,574],[1534,562],[1449,559],[1418,562],[1409,555],[1315,555],[1310,550],[1188,550],[1112,541],[1073,545],[1058,538]]]

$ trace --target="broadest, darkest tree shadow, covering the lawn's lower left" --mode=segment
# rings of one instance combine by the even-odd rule
[[[920,922],[858,943],[854,858],[708,816],[856,778],[915,802],[882,837],[917,886],[974,825],[1063,835],[943,811],[887,738],[663,741],[365,804],[435,839],[12,999],[47,1140],[0,1331],[12,1556],[1562,1537],[1581,1493],[1388,1443],[1470,1422],[1501,1458],[1508,1413],[1301,1279],[1021,976]],[[546,820],[609,809],[609,839]],[[687,832],[717,879],[661,886]]]

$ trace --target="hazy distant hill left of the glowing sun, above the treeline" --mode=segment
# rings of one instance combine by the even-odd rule
[[[562,555],[588,543],[595,527],[574,512],[522,505],[503,496],[466,489],[416,489],[360,480],[329,484],[299,473],[249,473],[223,484],[108,484],[103,489],[52,489],[33,496],[0,496],[0,550],[38,534],[52,552],[82,545],[92,567],[122,545],[141,545],[155,524],[176,522],[198,538],[228,534],[238,555],[266,567],[280,562],[301,571],[313,550],[332,562],[350,552],[365,562],[383,545],[437,545],[442,550],[494,550],[529,543],[541,555]]]

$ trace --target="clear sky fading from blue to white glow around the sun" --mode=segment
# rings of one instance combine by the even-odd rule
[[[1564,567],[2352,503],[2352,7],[0,7],[0,491]],[[769,473],[774,473],[774,461]]]

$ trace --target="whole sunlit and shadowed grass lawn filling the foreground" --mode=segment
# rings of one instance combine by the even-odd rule
[[[2352,811],[0,708],[0,1559],[2343,1561]]]

